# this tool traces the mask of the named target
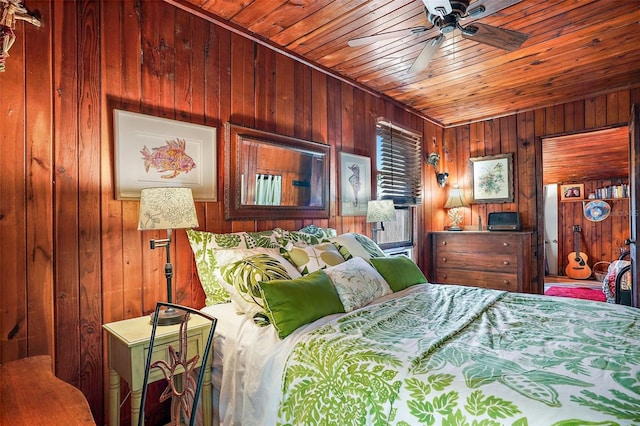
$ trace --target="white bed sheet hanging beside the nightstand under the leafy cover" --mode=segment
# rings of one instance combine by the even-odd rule
[[[417,290],[409,287],[381,297],[381,303]],[[369,305],[368,305],[369,306]],[[276,424],[282,393],[282,371],[300,336],[345,314],[320,318],[280,339],[274,327],[259,327],[236,313],[233,303],[207,306],[204,312],[218,319],[213,348],[214,425]]]

